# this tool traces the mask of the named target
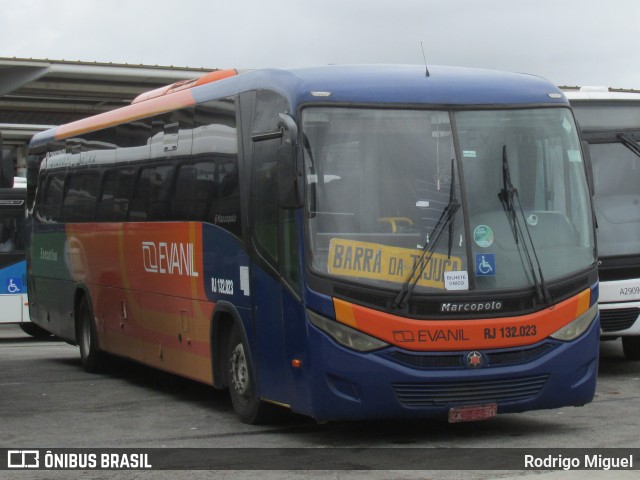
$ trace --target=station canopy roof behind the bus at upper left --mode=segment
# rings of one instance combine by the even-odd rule
[[[0,57],[0,131],[5,145],[24,145],[38,131],[214,70]]]

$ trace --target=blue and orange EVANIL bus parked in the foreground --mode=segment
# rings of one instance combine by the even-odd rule
[[[583,405],[591,195],[535,76],[256,70],[152,92],[30,146],[32,320],[228,388],[248,423]]]

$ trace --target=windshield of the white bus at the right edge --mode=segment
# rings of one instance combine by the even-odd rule
[[[640,157],[622,143],[592,144],[591,164],[602,257],[640,253]]]

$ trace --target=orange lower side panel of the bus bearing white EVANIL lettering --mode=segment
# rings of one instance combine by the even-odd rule
[[[75,224],[71,276],[91,292],[101,348],[211,383],[197,223]]]

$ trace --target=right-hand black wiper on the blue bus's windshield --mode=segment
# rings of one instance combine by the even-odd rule
[[[522,203],[520,202],[520,195],[518,194],[518,189],[513,186],[513,183],[511,183],[511,172],[509,170],[509,161],[507,160],[506,145],[502,147],[502,190],[498,193],[498,198],[500,199],[502,208],[509,219],[509,225],[511,226],[511,231],[513,232],[513,238],[516,245],[522,245],[522,251],[524,252],[524,256],[529,266],[529,273],[533,279],[533,285],[536,289],[538,301],[549,304],[551,303],[551,295],[549,294],[547,284],[544,280],[544,276],[542,275],[542,266],[540,265],[540,260],[538,259],[533,239],[531,238],[531,231],[529,230],[529,226],[525,219]],[[516,202],[518,203],[518,211],[516,211]],[[518,216],[518,213],[520,213],[520,216]],[[522,228],[522,225],[524,225],[524,229]],[[527,234],[529,245],[531,245],[531,252],[529,251],[527,239],[523,234],[523,230]],[[520,242],[518,238],[522,238],[522,242]],[[533,260],[536,262],[538,270],[537,275],[536,267],[534,267],[533,260],[531,258],[531,253],[533,253]]]

